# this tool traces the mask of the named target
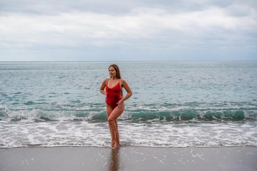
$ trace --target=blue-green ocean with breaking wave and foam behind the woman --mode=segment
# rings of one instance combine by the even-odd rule
[[[0,148],[110,147],[113,63],[133,92],[121,146],[257,146],[257,61],[0,62]]]

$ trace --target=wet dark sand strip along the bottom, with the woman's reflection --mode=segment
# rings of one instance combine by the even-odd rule
[[[257,171],[257,147],[0,149],[0,171]]]

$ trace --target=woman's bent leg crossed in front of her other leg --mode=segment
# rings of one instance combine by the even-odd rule
[[[124,108],[125,108],[124,103],[122,104],[122,107],[120,109],[118,109],[118,107],[115,107],[108,117],[108,123],[109,123],[110,132],[111,132],[113,148],[116,148],[117,143],[119,144],[119,135],[117,131],[117,118],[122,114],[122,112],[124,111]],[[118,141],[116,142],[116,140]]]

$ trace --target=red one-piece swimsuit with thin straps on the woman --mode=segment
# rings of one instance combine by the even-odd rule
[[[107,105],[111,106],[114,109],[115,107],[118,106],[117,105],[118,101],[122,99],[122,97],[120,96],[121,89],[119,85],[119,80],[118,80],[118,84],[113,88],[108,87],[108,81],[105,87],[105,91],[106,91],[105,102]]]

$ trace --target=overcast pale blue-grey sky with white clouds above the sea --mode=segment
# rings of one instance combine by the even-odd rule
[[[257,60],[257,0],[0,0],[0,61]]]

